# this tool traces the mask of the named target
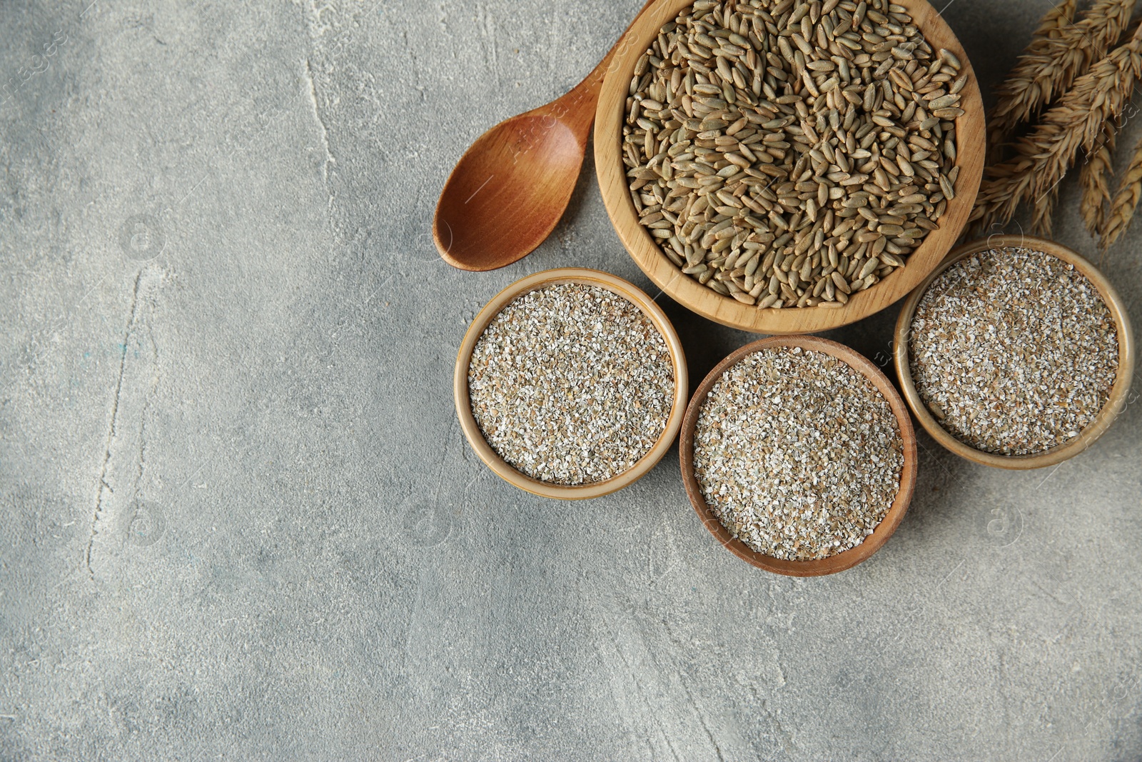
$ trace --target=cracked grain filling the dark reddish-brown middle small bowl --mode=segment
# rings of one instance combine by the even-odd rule
[[[714,515],[758,553],[807,561],[860,545],[900,490],[887,400],[825,352],[754,352],[714,384],[694,426],[694,476]]]

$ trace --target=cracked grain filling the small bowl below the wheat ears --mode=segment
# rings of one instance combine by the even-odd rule
[[[983,452],[1035,455],[1078,436],[1107,403],[1118,329],[1073,265],[992,249],[928,286],[908,356],[916,391],[949,434]]]

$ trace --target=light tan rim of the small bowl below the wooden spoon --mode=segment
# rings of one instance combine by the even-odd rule
[[[484,439],[483,433],[480,431],[480,426],[476,424],[475,417],[472,415],[472,402],[468,398],[468,364],[472,361],[472,351],[475,348],[476,342],[480,339],[481,335],[483,335],[488,323],[490,323],[492,319],[496,318],[496,315],[498,315],[500,311],[516,297],[528,294],[529,291],[544,288],[545,286],[553,286],[557,283],[584,283],[587,286],[597,286],[598,288],[605,288],[609,291],[613,291],[614,294],[618,294],[619,296],[632,302],[635,306],[642,310],[648,318],[650,318],[652,323],[654,323],[654,328],[658,329],[658,332],[666,342],[666,346],[670,352],[670,360],[674,363],[674,402],[670,406],[670,417],[666,422],[666,430],[662,432],[662,435],[658,438],[658,441],[654,442],[650,452],[644,455],[629,471],[625,471],[618,476],[613,476],[601,482],[590,482],[576,487],[552,484],[539,481],[538,479],[532,479],[531,476],[520,473],[513,466],[508,465],[504,458],[496,454]],[[616,275],[611,275],[610,273],[600,272],[598,270],[587,270],[584,267],[545,270],[544,272],[517,280],[497,294],[492,300],[480,311],[480,314],[477,314],[475,320],[472,321],[468,332],[464,335],[464,342],[460,344],[460,351],[456,356],[456,372],[452,378],[456,415],[460,419],[460,428],[464,430],[464,435],[467,438],[472,449],[480,456],[480,459],[483,460],[497,476],[500,476],[509,484],[514,484],[515,487],[526,490],[532,495],[552,497],[561,500],[581,500],[590,497],[600,497],[601,495],[609,495],[622,489],[624,487],[628,487],[645,476],[650,470],[662,459],[662,456],[666,455],[666,451],[669,450],[670,446],[674,443],[674,438],[678,434],[678,427],[682,425],[682,416],[686,408],[686,393],[689,391],[689,385],[690,382],[686,375],[686,355],[682,351],[682,343],[678,340],[678,335],[675,332],[674,326],[670,324],[666,313],[664,313],[662,310],[654,304],[653,299],[646,296],[646,294],[633,283],[629,283]]]

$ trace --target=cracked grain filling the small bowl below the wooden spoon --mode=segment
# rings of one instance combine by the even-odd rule
[[[472,412],[488,444],[553,484],[632,468],[666,430],[674,364],[635,304],[581,283],[517,297],[488,324],[468,366]]]

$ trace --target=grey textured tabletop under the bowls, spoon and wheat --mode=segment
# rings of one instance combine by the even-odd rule
[[[1142,406],[1046,473],[922,435],[900,530],[821,579],[722,550],[676,450],[580,504],[474,458],[480,306],[649,283],[589,159],[499,272],[441,263],[436,195],[638,6],[0,2],[0,759],[1142,759]],[[943,13],[990,86],[1047,8]],[[695,379],[750,339],[659,300]],[[894,319],[829,336],[883,361]]]

